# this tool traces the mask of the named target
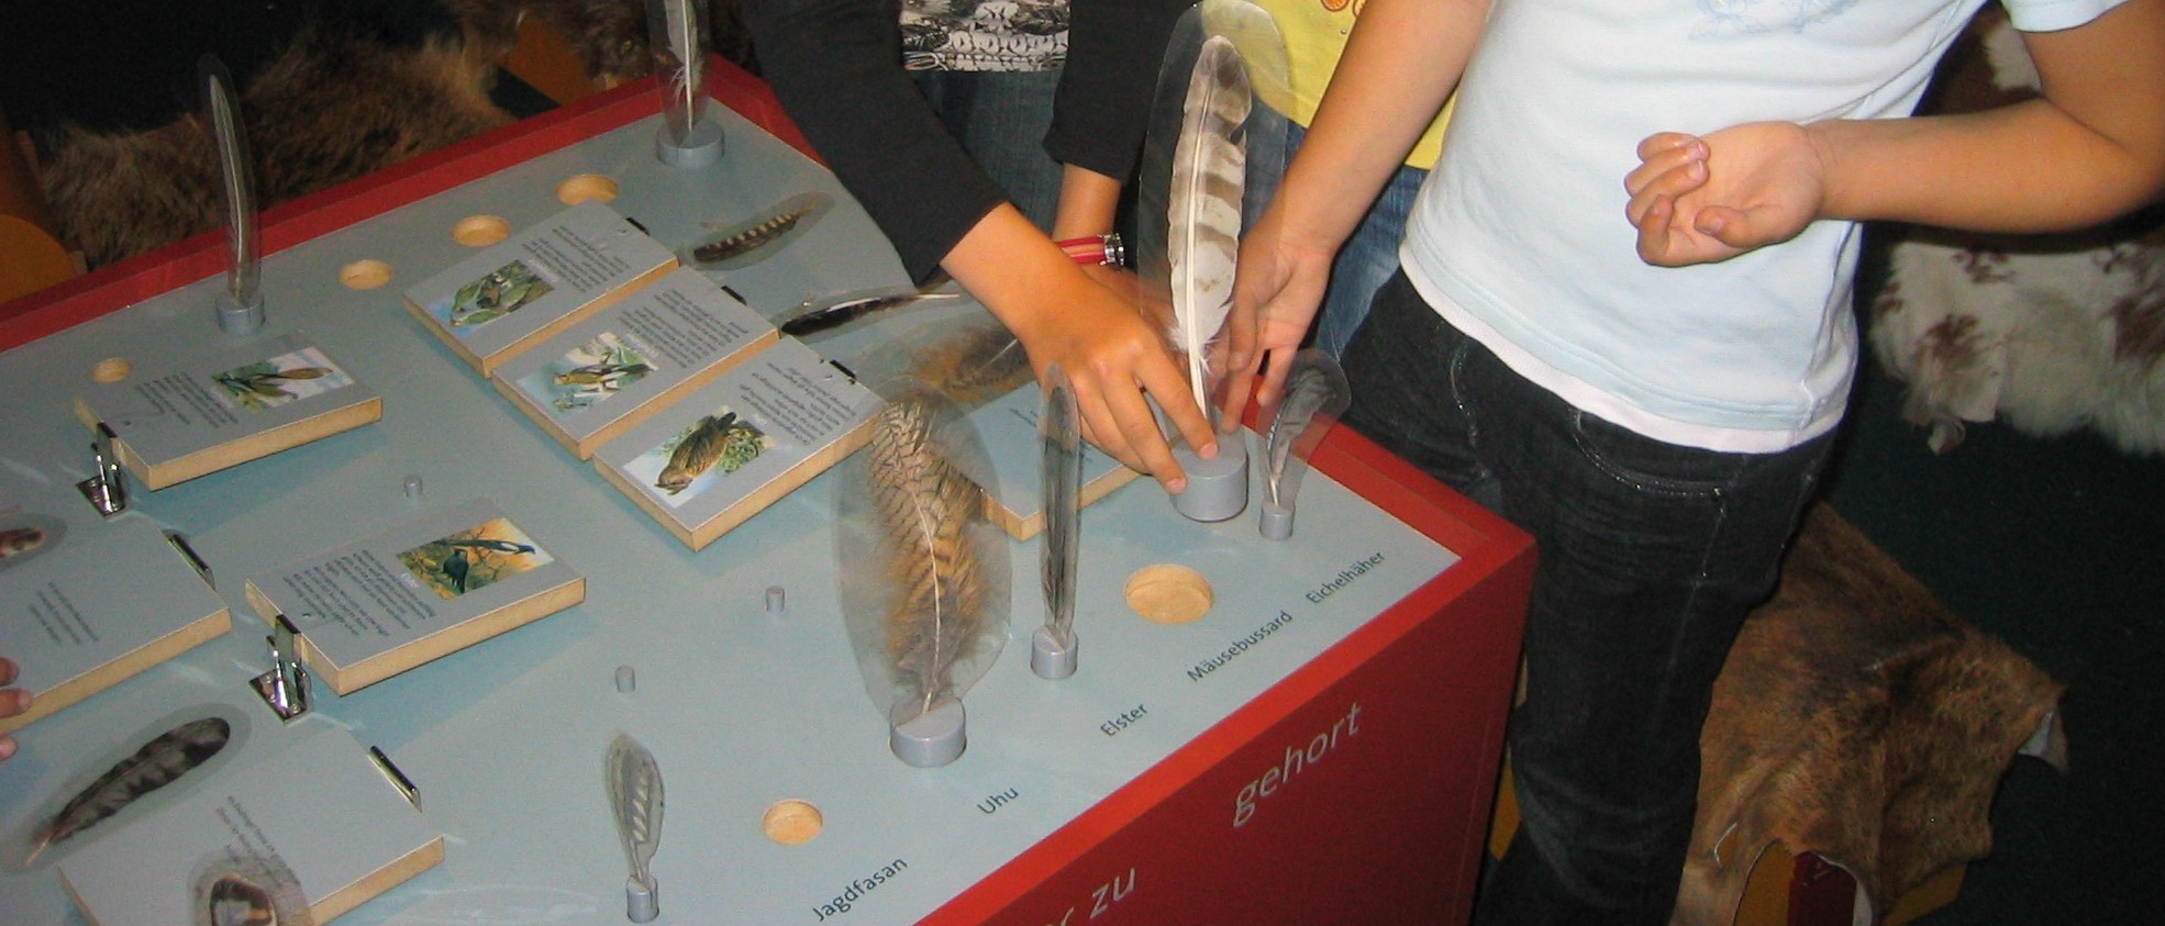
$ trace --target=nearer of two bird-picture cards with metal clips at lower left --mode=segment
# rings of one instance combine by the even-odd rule
[[[474,500],[251,576],[247,595],[346,694],[569,608],[587,578]]]

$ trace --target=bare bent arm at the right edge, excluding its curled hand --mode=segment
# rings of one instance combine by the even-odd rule
[[[2029,32],[2044,97],[1987,113],[1808,125],[1821,214],[1977,232],[2096,225],[2165,188],[2165,0]],[[1719,164],[1717,164],[1719,169]]]

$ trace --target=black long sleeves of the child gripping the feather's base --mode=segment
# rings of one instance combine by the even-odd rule
[[[1072,0],[1046,136],[1054,160],[1134,171],[1165,41],[1189,2]],[[898,0],[747,0],[745,26],[790,119],[914,279],[1007,201],[903,69]]]

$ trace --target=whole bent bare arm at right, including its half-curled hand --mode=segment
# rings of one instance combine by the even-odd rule
[[[1985,113],[1656,134],[1626,177],[1639,255],[1680,266],[1812,219],[1979,232],[2096,225],[2165,188],[2165,0],[2024,32],[2044,97]]]

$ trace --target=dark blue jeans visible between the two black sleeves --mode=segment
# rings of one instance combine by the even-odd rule
[[[1061,71],[911,71],[946,130],[1007,199],[1052,229],[1061,162],[1046,154]]]

